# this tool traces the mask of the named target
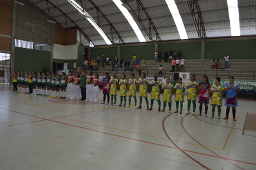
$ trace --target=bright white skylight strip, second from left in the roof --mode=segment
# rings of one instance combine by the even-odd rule
[[[143,34],[140,31],[140,28],[138,27],[138,25],[136,24],[136,22],[134,21],[134,19],[132,18],[131,13],[128,12],[127,8],[124,7],[123,3],[120,0],[113,0],[113,2],[116,4],[116,6],[119,8],[119,10],[123,13],[125,19],[127,19],[127,21],[129,22],[129,24],[131,25],[134,33],[136,34],[136,36],[138,37],[140,42],[146,42]],[[128,7],[128,6],[127,6]],[[129,7],[128,7],[129,8]],[[129,8],[130,9],[130,8]],[[131,10],[131,9],[130,9]]]

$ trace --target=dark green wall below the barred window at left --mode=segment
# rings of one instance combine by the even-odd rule
[[[44,72],[44,68],[50,68],[50,58],[49,51],[15,47],[15,72]]]

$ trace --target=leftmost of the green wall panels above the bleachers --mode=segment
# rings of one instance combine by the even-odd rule
[[[117,56],[117,47],[107,47],[107,48],[97,48],[97,49],[91,49],[91,56],[89,58],[97,57],[97,55],[100,56],[111,56],[111,58],[115,58]]]

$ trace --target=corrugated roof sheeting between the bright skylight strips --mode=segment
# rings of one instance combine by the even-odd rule
[[[54,9],[51,4],[49,4],[49,9],[47,8],[46,1],[32,1],[38,8],[44,10],[45,13],[49,14],[49,11],[59,23],[63,27],[74,27],[70,20],[67,20],[63,17],[62,13],[58,10]],[[172,14],[170,13],[168,6],[164,0],[152,1],[152,0],[140,0],[145,10],[147,11],[150,19],[152,20],[154,26],[157,29],[157,33],[159,34],[161,40],[180,40],[179,32],[177,27],[175,26],[175,22],[172,18]],[[76,1],[81,5],[81,1]],[[95,10],[95,6],[93,6],[90,1],[82,1],[83,8],[89,15],[98,22],[97,19],[97,10]],[[153,29],[150,30],[150,24],[148,24],[148,17],[145,15],[143,10],[140,8],[140,12],[138,12],[137,1],[128,0],[127,1],[131,6],[131,9],[134,10],[136,15],[140,15],[140,21],[136,19],[134,15],[134,20],[141,29],[141,32],[145,36],[147,42],[150,42],[150,38],[148,38],[146,31],[141,26],[141,23],[145,26],[148,32],[151,31],[153,39],[156,38],[155,32]],[[177,4],[177,8],[179,9],[180,16],[182,21],[184,22],[184,26],[186,32],[188,34],[188,38],[198,38],[198,33],[196,32],[195,23],[193,22],[193,18],[191,17],[191,13],[188,8],[188,4],[184,0],[175,0]],[[95,28],[86,20],[84,17],[79,15],[79,12],[74,8],[68,1],[58,1],[51,0],[51,3],[55,4],[62,10],[64,13],[68,15],[76,24],[81,27],[88,35],[88,37],[92,40],[95,45],[105,45],[103,38],[99,35],[99,33],[95,30]],[[125,43],[134,43],[139,42],[136,34],[132,30],[132,27],[129,25],[124,15],[120,10],[115,6],[115,3],[111,0],[105,1],[93,1],[95,5],[104,13],[104,15],[108,18],[109,22],[113,24],[116,31],[123,38]],[[205,33],[207,37],[223,37],[223,36],[231,36],[230,32],[230,22],[228,16],[228,7],[227,1],[225,0],[207,0],[198,1],[202,19],[204,21]],[[239,19],[240,19],[240,27],[241,27],[241,36],[244,35],[256,35],[256,1],[255,0],[239,0]],[[82,5],[81,5],[82,6]],[[131,13],[131,12],[130,12]],[[99,14],[99,26],[101,29],[108,35],[111,36],[109,23],[101,14]],[[122,43],[119,41],[118,36],[113,32],[113,41],[115,43]]]

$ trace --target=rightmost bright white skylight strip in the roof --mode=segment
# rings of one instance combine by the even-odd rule
[[[237,0],[227,0],[231,36],[240,36],[240,20]]]

